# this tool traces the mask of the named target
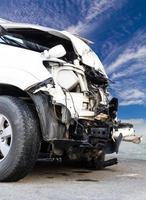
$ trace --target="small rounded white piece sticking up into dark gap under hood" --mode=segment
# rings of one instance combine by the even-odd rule
[[[45,50],[43,54],[46,58],[61,58],[66,55],[66,50],[59,44],[49,50]]]

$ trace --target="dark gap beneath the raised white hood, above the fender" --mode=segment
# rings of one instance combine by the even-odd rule
[[[40,53],[61,44],[67,52],[62,59],[71,63],[76,59],[76,54],[70,40],[33,28],[5,30],[0,26],[0,44],[16,46]]]

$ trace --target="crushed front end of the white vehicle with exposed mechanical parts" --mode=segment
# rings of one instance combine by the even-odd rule
[[[109,100],[109,80],[96,54],[84,41],[72,37],[73,44],[80,42],[82,51],[74,45],[74,52],[60,59],[42,53],[52,77],[31,87],[29,93],[39,114],[43,140],[50,144],[50,156],[101,169],[117,164],[117,159],[104,158],[118,153],[122,140],[121,133],[114,137],[118,100]]]

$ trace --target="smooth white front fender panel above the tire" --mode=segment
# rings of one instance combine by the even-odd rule
[[[43,66],[40,53],[0,44],[0,83],[25,90],[51,74]]]

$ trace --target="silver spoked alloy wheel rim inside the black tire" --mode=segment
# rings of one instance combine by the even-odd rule
[[[5,159],[12,144],[12,126],[3,114],[0,114],[0,162]]]

